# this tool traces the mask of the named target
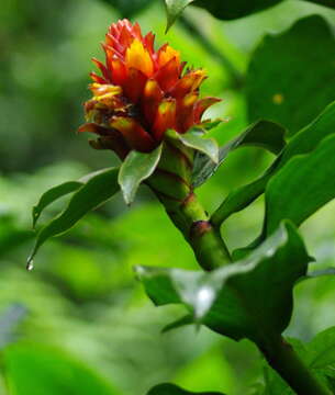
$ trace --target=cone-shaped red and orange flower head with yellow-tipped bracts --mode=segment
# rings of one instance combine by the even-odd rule
[[[121,158],[132,149],[149,153],[167,129],[186,133],[220,101],[199,98],[204,70],[185,71],[179,53],[168,44],[155,50],[154,41],[152,32],[143,36],[127,20],[109,27],[105,64],[92,59],[101,76],[90,74],[93,98],[85,103],[87,123],[79,128],[100,136],[91,142],[94,148],[112,149]]]

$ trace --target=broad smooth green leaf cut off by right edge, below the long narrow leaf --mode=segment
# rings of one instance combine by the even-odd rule
[[[266,189],[265,233],[271,234],[283,218],[297,226],[335,198],[335,136],[314,151],[292,158]]]

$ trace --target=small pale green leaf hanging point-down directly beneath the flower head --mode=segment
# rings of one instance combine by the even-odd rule
[[[142,181],[155,171],[161,155],[161,145],[149,154],[131,151],[121,166],[118,182],[126,204],[133,203]]]

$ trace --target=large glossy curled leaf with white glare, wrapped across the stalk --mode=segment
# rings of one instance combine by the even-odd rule
[[[295,228],[284,223],[246,259],[210,273],[149,267],[136,273],[156,305],[182,303],[196,323],[261,343],[288,326],[292,287],[309,260]]]

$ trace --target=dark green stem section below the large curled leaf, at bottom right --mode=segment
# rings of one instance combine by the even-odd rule
[[[270,366],[291,386],[297,395],[332,395],[300,360],[293,347],[281,336],[266,348],[259,347]]]

